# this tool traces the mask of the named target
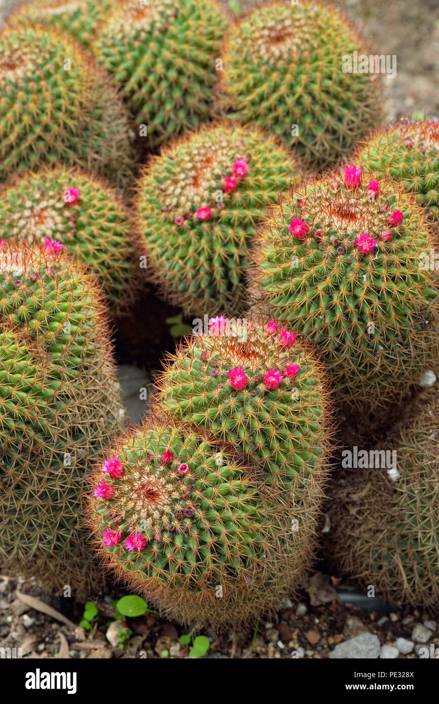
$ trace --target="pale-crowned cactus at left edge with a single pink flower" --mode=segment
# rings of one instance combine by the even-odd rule
[[[133,298],[134,222],[116,191],[98,177],[53,166],[7,184],[0,191],[0,239],[8,238],[68,249],[98,275],[115,313]]]

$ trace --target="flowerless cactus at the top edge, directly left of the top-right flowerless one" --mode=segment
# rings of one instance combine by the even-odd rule
[[[215,0],[121,0],[99,27],[96,57],[149,144],[208,116],[223,30]]]

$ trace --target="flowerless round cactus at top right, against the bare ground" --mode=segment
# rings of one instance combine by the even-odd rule
[[[380,121],[378,81],[343,72],[343,57],[362,50],[362,37],[331,6],[263,4],[227,34],[219,73],[225,103],[322,168]]]

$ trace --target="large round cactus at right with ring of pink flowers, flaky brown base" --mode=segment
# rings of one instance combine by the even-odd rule
[[[435,356],[433,238],[414,196],[346,166],[291,191],[258,236],[253,295],[324,353],[360,411],[402,398]]]

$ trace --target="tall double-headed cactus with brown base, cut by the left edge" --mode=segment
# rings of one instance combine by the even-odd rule
[[[98,589],[83,480],[122,413],[99,291],[64,253],[2,242],[0,331],[1,565]]]

